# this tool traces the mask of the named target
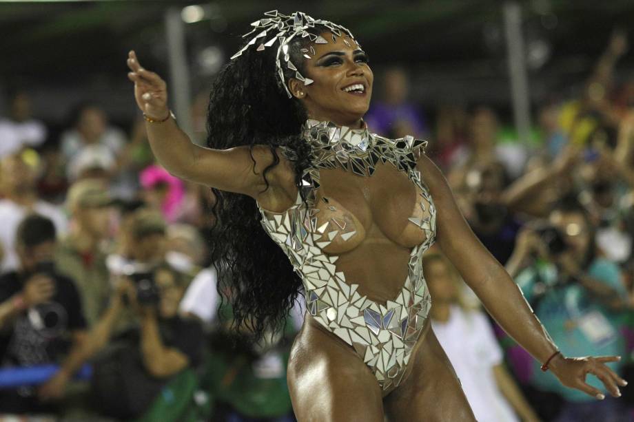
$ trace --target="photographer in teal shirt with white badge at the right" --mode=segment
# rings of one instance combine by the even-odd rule
[[[507,270],[564,354],[624,354],[619,330],[627,294],[620,270],[597,255],[595,227],[574,199],[567,197],[556,205],[547,226],[522,230]],[[609,366],[620,372],[619,362]],[[600,386],[594,377],[588,383]],[[622,420],[620,403],[613,397],[589,400],[562,388],[539,366],[533,365],[531,384],[562,397],[557,421]]]

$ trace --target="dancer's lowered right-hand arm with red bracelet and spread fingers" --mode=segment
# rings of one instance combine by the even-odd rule
[[[545,362],[558,348],[524,299],[522,291],[475,237],[438,167],[422,155],[418,169],[438,211],[436,240],[440,248],[495,321],[535,359]],[[585,383],[585,376],[587,373],[595,374],[614,397],[619,397],[617,383],[624,386],[625,381],[604,365],[604,362],[616,360],[617,357],[567,358],[557,355],[549,367],[564,386],[601,399],[600,390]]]

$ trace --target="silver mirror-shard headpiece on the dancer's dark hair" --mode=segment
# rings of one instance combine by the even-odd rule
[[[333,42],[336,42],[337,36],[342,36],[342,32],[345,32],[347,36],[354,39],[351,32],[341,25],[337,25],[336,23],[332,23],[330,21],[324,21],[322,19],[313,19],[303,12],[294,12],[293,14],[286,15],[281,14],[277,10],[271,10],[270,12],[265,12],[264,15],[265,17],[263,19],[251,24],[254,28],[250,32],[247,32],[247,34],[244,34],[243,38],[247,38],[252,34],[255,34],[255,36],[243,48],[241,48],[240,51],[234,54],[231,59],[233,60],[236,59],[236,57],[241,56],[241,54],[243,54],[243,52],[252,45],[257,45],[256,50],[258,52],[262,52],[265,48],[272,47],[276,41],[278,41],[278,50],[275,56],[276,72],[289,98],[292,98],[293,96],[287,87],[282,66],[286,67],[286,69],[291,72],[295,72],[295,77],[302,81],[304,85],[310,85],[313,83],[311,78],[305,78],[302,76],[298,70],[298,66],[291,61],[289,43],[294,38],[298,36],[302,38],[308,37],[313,43],[327,44],[328,41],[323,36],[311,34],[309,32],[310,28],[314,28],[315,25],[323,25],[332,32]],[[303,48],[301,52],[306,59],[311,59],[312,56],[315,55],[315,49],[312,47]]]

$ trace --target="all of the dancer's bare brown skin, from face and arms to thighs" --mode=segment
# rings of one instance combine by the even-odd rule
[[[321,35],[331,39],[329,32]],[[304,61],[303,76],[314,83],[304,85],[291,78],[287,81],[289,92],[303,105],[310,118],[339,126],[360,127],[361,118],[369,108],[373,81],[360,46],[346,36],[339,36],[334,42],[316,43],[313,47],[316,52]],[[130,52],[127,65],[139,109],[154,120],[169,116],[165,81],[154,72],[143,69],[134,52]],[[366,86],[365,95],[342,90],[356,83]],[[269,171],[268,183],[265,182],[263,171],[274,162],[268,146],[224,150],[197,147],[170,118],[164,123],[147,123],[145,127],[156,159],[178,177],[251,196],[260,207],[271,211],[285,211],[297,198],[295,173],[287,160],[282,159]],[[545,362],[553,356],[550,370],[564,386],[597,397],[601,391],[584,382],[586,374],[591,373],[601,379],[613,397],[618,397],[617,383],[624,386],[625,381],[605,365],[618,358],[553,355],[556,346],[531,312],[517,285],[469,229],[438,168],[425,155],[418,158],[417,167],[436,206],[436,242],[500,326],[535,359]],[[405,215],[413,210],[413,187],[407,186],[404,174],[395,176],[399,179],[396,181],[385,172],[367,178],[364,180],[369,183],[367,191],[349,180],[342,183],[342,175],[334,175],[334,172],[330,175],[326,171],[323,174],[325,178],[332,177],[325,183],[326,194],[340,202],[365,232],[354,249],[340,253],[342,258],[338,266],[347,272],[347,277],[362,284],[366,293],[377,302],[381,297],[391,298],[406,271],[407,247],[418,241],[413,239],[415,235],[408,233],[405,216],[400,220],[400,213]],[[367,193],[369,200],[363,193]],[[380,207],[382,195],[390,198],[385,208]],[[357,259],[350,258],[353,254]],[[348,258],[344,259],[343,255]],[[380,274],[387,277],[380,277]],[[361,275],[365,277],[363,280]],[[431,329],[425,328],[427,330],[418,339],[409,361],[407,369],[411,373],[396,390],[382,399],[376,378],[362,359],[344,341],[308,317],[294,344],[288,372],[298,419],[383,421],[385,410],[391,421],[473,421],[473,414],[447,357]]]

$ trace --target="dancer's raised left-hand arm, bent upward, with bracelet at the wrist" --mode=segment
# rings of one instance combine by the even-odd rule
[[[224,191],[244,193],[260,200],[263,205],[271,205],[269,198],[262,197],[279,193],[276,188],[289,179],[288,165],[278,165],[267,173],[272,189],[265,191],[267,184],[263,171],[274,162],[269,147],[256,146],[249,151],[246,146],[221,150],[195,145],[178,128],[176,120],[170,117],[167,84],[161,76],[141,67],[134,52],[130,52],[127,65],[130,67],[127,76],[134,82],[136,105],[145,116],[154,120],[154,123],[145,123],[150,147],[156,160],[167,171],[178,178]],[[285,162],[280,154],[278,156]]]

